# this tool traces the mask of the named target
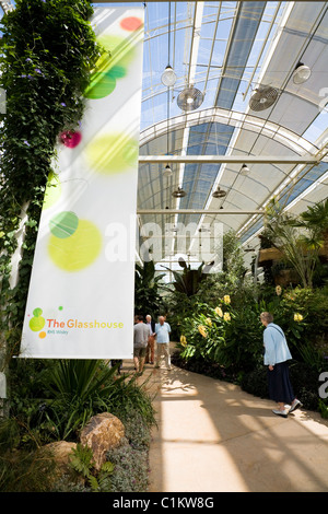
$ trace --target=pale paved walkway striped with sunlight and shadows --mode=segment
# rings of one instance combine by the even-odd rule
[[[238,386],[147,365],[159,427],[150,447],[150,492],[327,492],[328,420]]]

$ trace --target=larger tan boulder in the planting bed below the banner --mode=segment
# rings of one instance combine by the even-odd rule
[[[106,462],[106,452],[119,446],[124,436],[122,422],[109,412],[102,412],[91,418],[81,432],[80,441],[92,449],[95,468],[99,470]]]

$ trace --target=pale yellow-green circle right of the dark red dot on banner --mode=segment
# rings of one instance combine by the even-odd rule
[[[96,173],[112,175],[138,163],[138,141],[125,133],[99,136],[86,148],[86,159]]]

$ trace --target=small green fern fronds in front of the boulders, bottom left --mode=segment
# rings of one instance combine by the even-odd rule
[[[89,446],[77,444],[72,449],[70,464],[72,468],[90,483],[93,492],[109,492],[110,491],[110,475],[114,471],[114,465],[105,462],[101,469],[95,469],[93,453]]]

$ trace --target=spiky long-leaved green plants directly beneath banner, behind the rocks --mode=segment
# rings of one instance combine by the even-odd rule
[[[155,423],[147,383],[117,376],[104,361],[13,360],[10,367],[10,419],[0,422],[0,451],[35,448],[77,441],[90,418],[110,411],[118,418],[131,408],[147,425]]]

